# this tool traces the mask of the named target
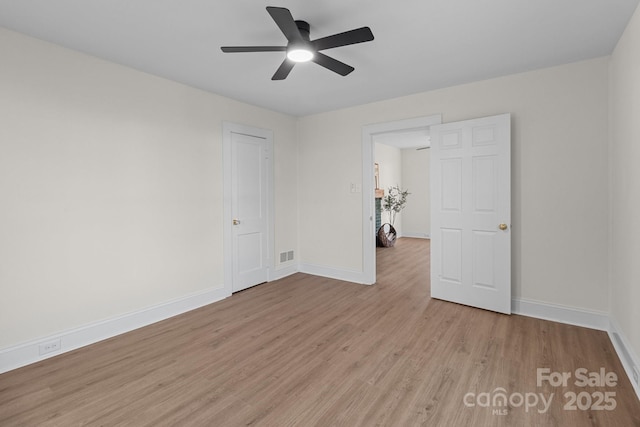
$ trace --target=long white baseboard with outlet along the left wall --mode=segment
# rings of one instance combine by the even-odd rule
[[[230,295],[226,287],[207,289],[142,310],[5,348],[0,350],[0,374],[195,310]],[[58,339],[61,343],[60,350],[40,355],[40,344]]]

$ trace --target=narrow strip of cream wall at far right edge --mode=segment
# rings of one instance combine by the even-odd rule
[[[640,9],[611,58],[611,316],[640,355]]]

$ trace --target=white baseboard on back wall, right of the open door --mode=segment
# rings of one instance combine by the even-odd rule
[[[609,328],[609,315],[602,311],[549,304],[525,298],[512,298],[511,311],[513,314],[583,326],[599,331],[606,331]]]

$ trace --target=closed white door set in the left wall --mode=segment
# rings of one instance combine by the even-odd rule
[[[269,157],[265,138],[231,132],[232,292],[268,280]]]

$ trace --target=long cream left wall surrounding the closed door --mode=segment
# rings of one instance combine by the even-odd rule
[[[274,131],[297,249],[294,118],[3,29],[0,58],[0,349],[223,286],[223,120]]]

